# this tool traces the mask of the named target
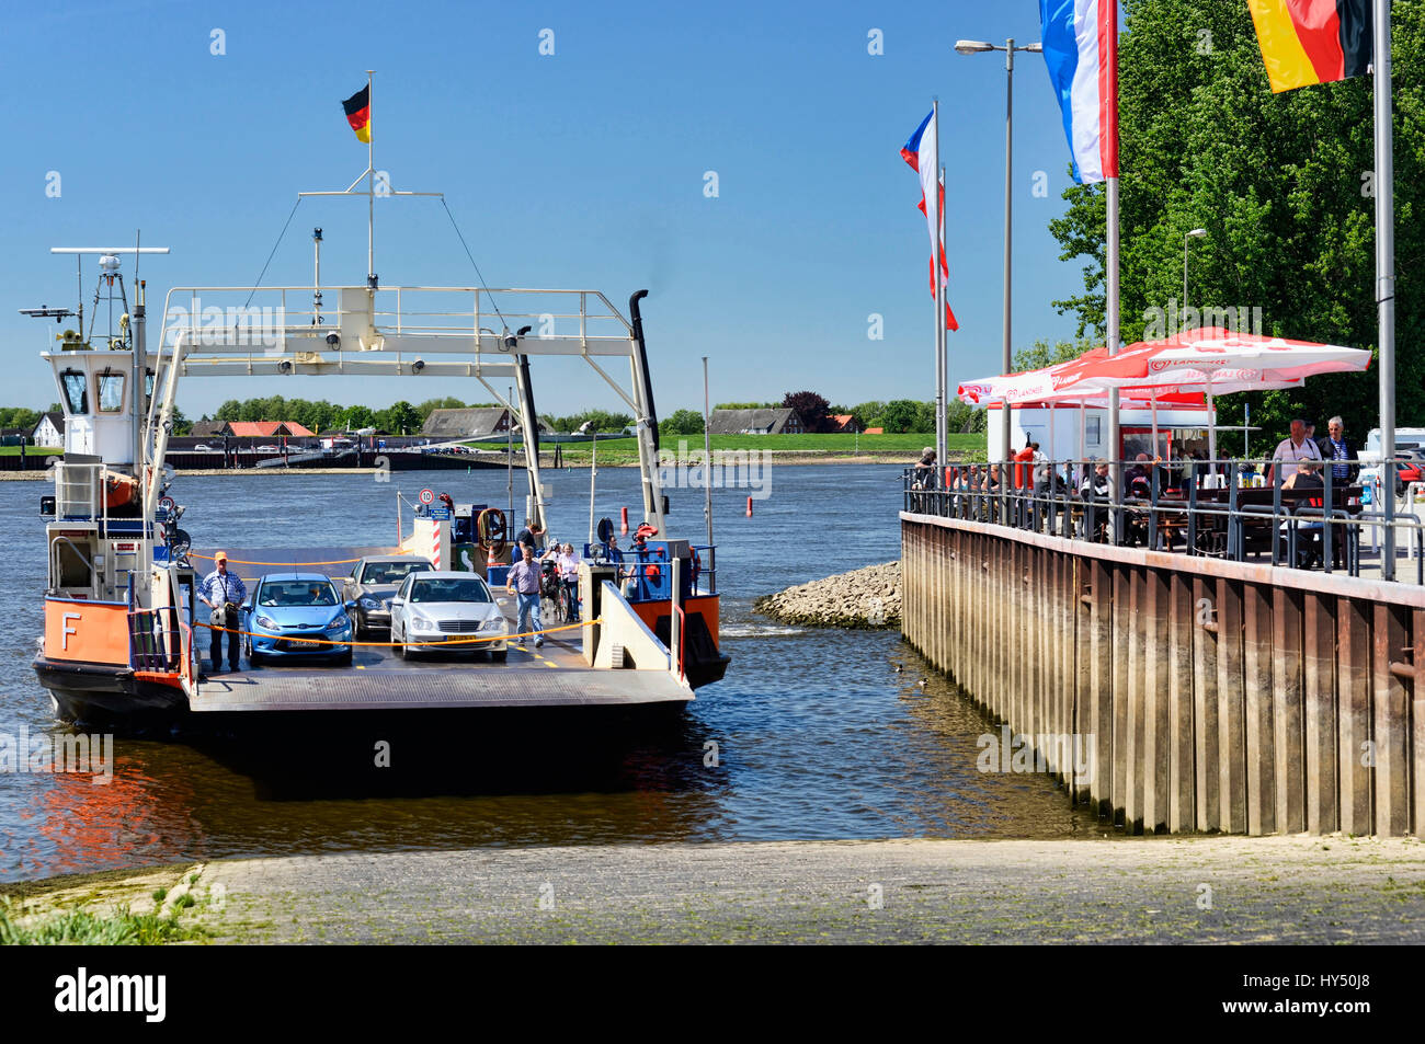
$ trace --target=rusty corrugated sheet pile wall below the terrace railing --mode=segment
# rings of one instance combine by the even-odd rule
[[[1425,590],[901,520],[906,640],[1076,800],[1131,832],[1425,836]]]

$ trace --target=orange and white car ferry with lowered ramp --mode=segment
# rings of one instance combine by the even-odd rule
[[[34,669],[54,714],[67,721],[182,715],[343,712],[426,708],[611,706],[681,708],[694,688],[728,665],[720,648],[715,548],[670,538],[658,476],[658,429],[640,302],[627,318],[594,289],[486,286],[174,288],[157,348],[147,345],[145,285],[130,305],[123,259],[161,248],[57,248],[98,255],[100,286],[118,322],[107,338],[60,335],[41,353],[64,410],[64,457],[53,464],[46,517],[44,634]],[[370,262],[372,254],[368,251]],[[373,268],[373,263],[369,263]],[[318,261],[319,273],[319,261]],[[83,285],[83,282],[81,282]],[[26,309],[60,322],[68,309]],[[95,309],[97,310],[97,309]],[[97,319],[97,315],[93,316]],[[532,330],[540,325],[539,335]],[[512,330],[513,328],[513,330]],[[167,466],[178,387],[201,376],[379,375],[402,382],[477,382],[527,433],[526,513],[543,523],[539,426],[532,363],[581,360],[638,419],[643,533],[634,548],[607,554],[607,528],[586,546],[579,587],[583,622],[544,648],[512,651],[506,662],[445,658],[410,662],[382,645],[358,645],[352,667],[262,667],[202,672],[207,612],[197,585],[211,568],[178,527],[181,484]],[[627,366],[620,383],[616,365]],[[613,372],[611,372],[613,370]],[[500,386],[517,389],[507,402]],[[419,400],[437,395],[413,393]],[[221,481],[221,479],[207,479]],[[480,504],[422,504],[413,528],[392,547],[232,548],[221,531],[201,547],[225,547],[239,575],[281,565],[318,568],[338,581],[366,554],[419,554],[435,568],[469,568],[503,588],[512,520]],[[262,561],[258,563],[258,558]],[[245,563],[252,563],[251,565]],[[249,591],[255,584],[248,583]],[[338,587],[341,584],[338,583]],[[352,608],[352,607],[348,607]],[[513,631],[513,607],[504,607]],[[455,638],[455,635],[452,635]],[[554,668],[554,669],[550,669]]]

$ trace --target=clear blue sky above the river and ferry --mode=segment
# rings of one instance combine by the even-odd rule
[[[804,387],[832,402],[933,395],[929,244],[902,142],[939,95],[949,167],[953,382],[998,372],[1005,162],[1003,56],[959,37],[1037,40],[1032,0],[982,3],[244,3],[13,6],[0,38],[0,404],[56,395],[36,357],[73,306],[56,245],[145,244],[151,305],[172,285],[249,285],[299,189],[345,188],[366,162],[341,100],[376,70],[376,167],[443,191],[492,286],[597,288],[644,305],[660,413]],[[212,30],[225,54],[211,54]],[[540,56],[540,31],[554,54]],[[882,56],[868,33],[882,30]],[[58,171],[61,195],[46,195]],[[704,195],[717,171],[718,197]],[[1033,194],[1036,171],[1047,198]],[[1050,301],[1082,286],[1047,222],[1067,145],[1043,60],[1015,77],[1015,343],[1073,333]],[[469,285],[439,202],[378,204],[385,285]],[[265,281],[363,282],[365,198],[304,201]],[[125,265],[125,271],[128,266]],[[94,268],[86,275],[86,305]],[[157,308],[151,308],[157,312]],[[869,340],[868,316],[884,316]],[[543,379],[542,379],[543,377]],[[539,406],[614,406],[579,370],[537,375]],[[395,397],[483,389],[376,379],[188,380],[197,417],[229,397]]]

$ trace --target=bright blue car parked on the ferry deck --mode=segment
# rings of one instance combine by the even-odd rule
[[[336,587],[321,573],[269,573],[242,605],[248,661],[352,662],[352,622]]]

